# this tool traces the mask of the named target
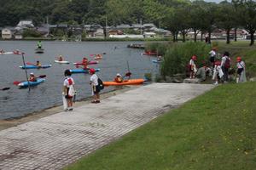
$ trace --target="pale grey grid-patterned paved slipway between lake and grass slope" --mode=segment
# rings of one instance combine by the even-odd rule
[[[212,85],[153,83],[0,131],[0,169],[61,169]]]

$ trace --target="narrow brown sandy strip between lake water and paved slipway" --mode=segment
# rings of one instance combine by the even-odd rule
[[[114,96],[116,94],[125,93],[126,91],[137,88],[137,87],[140,87],[140,86],[124,86],[122,88],[116,88],[116,89],[113,89],[112,91],[102,93],[101,94],[101,99],[107,99],[111,96]],[[74,103],[74,110],[78,106],[90,103],[91,98],[92,97],[87,97],[87,98],[76,101]],[[9,127],[18,126],[22,123],[32,122],[34,120],[43,118],[45,116],[54,115],[54,114],[59,113],[61,111],[63,111],[63,105],[55,105],[55,106],[46,108],[43,111],[35,111],[35,112],[32,112],[32,113],[29,113],[26,116],[3,119],[3,120],[0,120],[0,131],[2,131],[3,129],[7,129]]]

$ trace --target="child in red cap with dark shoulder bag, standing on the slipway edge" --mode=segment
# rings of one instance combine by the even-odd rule
[[[98,87],[98,77],[95,74],[95,70],[93,68],[90,69],[90,85],[92,89],[92,94],[93,94],[93,100],[91,103],[97,104],[100,103],[100,91],[101,89]]]

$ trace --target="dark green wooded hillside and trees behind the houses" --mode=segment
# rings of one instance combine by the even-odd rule
[[[16,26],[19,20],[31,19],[38,26],[49,19],[49,24],[119,24],[154,23],[177,35],[194,31],[195,41],[201,31],[209,37],[216,28],[227,33],[244,28],[251,37],[256,31],[256,2],[232,0],[207,3],[201,0],[0,0],[0,26]],[[235,33],[236,41],[236,33]]]

